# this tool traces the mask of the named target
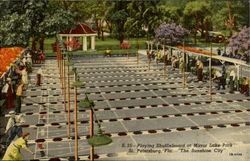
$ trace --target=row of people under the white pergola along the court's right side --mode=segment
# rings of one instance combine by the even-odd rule
[[[159,56],[160,55],[160,56]],[[163,54],[160,54],[160,51],[158,50],[156,54],[154,54],[154,51],[147,51],[147,56],[149,59],[155,58],[156,61],[162,57]],[[168,54],[165,54],[165,62],[168,61]],[[177,67],[179,67],[180,72],[184,72],[184,69],[187,70],[191,67],[195,67],[196,75],[197,75],[197,81],[203,81],[204,80],[204,63],[201,59],[196,57],[195,61],[193,62],[193,59],[190,59],[190,57],[186,54],[183,54],[182,52],[179,53],[173,53],[171,56],[171,70],[174,71]],[[238,79],[236,78],[236,69],[234,67],[228,68],[229,72],[226,72],[226,64],[225,62],[222,62],[222,67],[218,68],[212,68],[212,81],[214,81],[217,84],[217,90],[220,89],[226,89],[226,86],[229,87],[229,92],[233,92],[236,89],[239,89],[238,85]],[[228,80],[228,83],[227,83]],[[242,85],[240,87],[240,92],[242,94],[245,94],[246,96],[249,95],[249,83],[248,79],[246,77],[243,77]]]

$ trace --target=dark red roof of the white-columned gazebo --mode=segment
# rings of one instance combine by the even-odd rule
[[[78,24],[73,29],[68,29],[62,32],[59,32],[59,34],[95,34],[96,32],[92,30],[88,25],[86,24]]]

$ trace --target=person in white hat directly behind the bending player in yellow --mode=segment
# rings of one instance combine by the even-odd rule
[[[10,145],[10,143],[15,139],[16,136],[20,137],[22,135],[22,128],[20,127],[20,123],[23,116],[15,115],[15,111],[11,111],[9,114],[10,118],[5,129],[5,134],[7,134],[6,147]]]

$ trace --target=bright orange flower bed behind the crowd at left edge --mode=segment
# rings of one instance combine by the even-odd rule
[[[0,77],[4,72],[8,71],[9,66],[20,57],[23,48],[0,48]]]

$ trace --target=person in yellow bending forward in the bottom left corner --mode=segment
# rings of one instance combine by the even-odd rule
[[[34,155],[35,153],[32,152],[27,147],[27,140],[29,138],[30,133],[24,132],[21,137],[16,139],[14,142],[10,144],[10,146],[7,148],[3,160],[24,160],[23,155],[21,154],[20,149],[24,149],[27,152]]]

